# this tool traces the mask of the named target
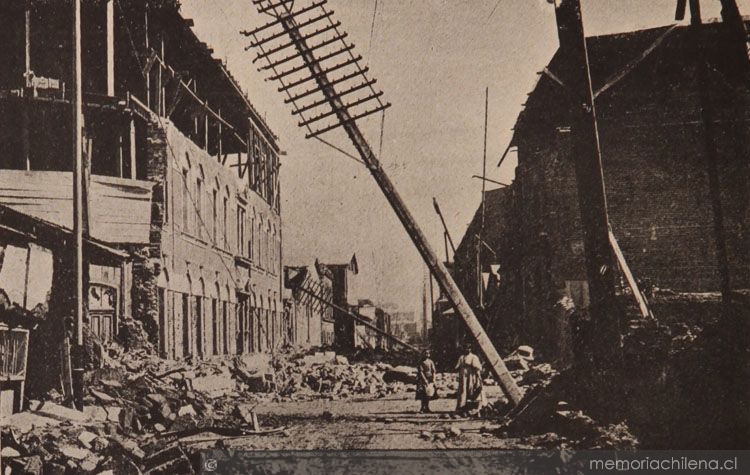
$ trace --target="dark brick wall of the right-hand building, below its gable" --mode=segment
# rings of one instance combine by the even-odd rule
[[[684,92],[683,102],[648,106],[636,100],[634,106],[623,96],[606,103],[599,132],[608,213],[636,278],[683,292],[715,291],[720,282],[706,142],[695,94]],[[718,114],[714,146],[730,280],[742,289],[750,287],[750,130],[738,120],[745,120],[744,109],[737,109],[727,106]],[[518,295],[523,326],[542,348],[560,347],[554,304],[571,283],[586,280],[570,134],[561,130],[529,128],[517,135]]]

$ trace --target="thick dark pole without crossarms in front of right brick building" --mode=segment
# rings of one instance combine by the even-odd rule
[[[593,347],[600,366],[620,354],[620,310],[615,298],[617,262],[609,242],[609,218],[604,188],[599,130],[591,87],[588,49],[583,30],[580,0],[558,0],[555,4],[560,49],[568,59],[571,90],[572,150],[583,228],[586,274],[589,281]],[[593,343],[593,342],[589,342]]]

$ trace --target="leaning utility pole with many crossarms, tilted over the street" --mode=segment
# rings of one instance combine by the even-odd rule
[[[508,400],[513,405],[517,405],[523,396],[520,389],[448,270],[427,242],[427,238],[417,226],[401,196],[396,192],[393,183],[356,123],[357,119],[382,111],[389,104],[383,104],[379,99],[383,93],[376,92],[372,88],[375,81],[368,79],[365,75],[368,68],[362,68],[359,65],[358,61],[361,56],[355,57],[352,53],[354,45],[346,42],[347,34],[339,30],[341,23],[334,22],[332,19],[333,11],[325,8],[326,0],[314,1],[304,7],[295,7],[295,5],[306,2],[294,0],[253,0],[253,3],[257,6],[259,13],[269,14],[273,18],[265,26],[244,32],[246,36],[253,38],[251,47],[260,50],[256,60],[265,59],[268,62],[268,65],[261,69],[271,70],[273,72],[271,79],[280,81],[279,92],[288,95],[285,102],[292,104],[293,114],[302,118],[299,125],[307,127],[308,138],[319,138],[319,135],[339,127],[344,129],[440,287],[456,308],[457,313],[463,318]],[[310,25],[321,24],[319,29],[305,30]],[[269,31],[273,27],[276,27],[276,32]],[[258,36],[264,32],[265,36],[262,38]],[[274,40],[283,37],[288,37],[290,41],[271,44]],[[279,52],[292,48],[296,50],[296,53],[287,56],[283,56],[282,53],[282,55],[275,56]],[[342,55],[344,56],[342,62],[326,65],[325,62],[328,59]],[[282,65],[286,65],[287,69],[280,70]],[[349,73],[345,72],[347,69]],[[339,76],[331,79],[331,73],[336,71]],[[357,81],[357,83],[343,89],[341,84],[349,80]],[[304,91],[295,89],[310,82],[315,84],[311,89]],[[344,96],[368,88],[369,92],[366,92],[363,97],[345,102]],[[302,99],[312,95],[318,95],[319,99],[303,104]],[[372,101],[377,102],[373,109],[364,111],[359,109],[358,106],[372,103]],[[304,113],[312,110],[319,111],[318,115],[305,119]],[[328,125],[322,125],[317,130],[312,130],[310,127],[311,124],[320,123],[319,121],[329,118],[332,118],[333,122]]]

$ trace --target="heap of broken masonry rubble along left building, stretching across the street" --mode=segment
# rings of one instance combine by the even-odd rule
[[[97,361],[102,367],[86,373],[83,412],[52,390],[3,421],[3,466],[10,468],[4,473],[191,473],[180,441],[284,429],[261,431],[253,403],[382,398],[414,391],[416,382],[413,367],[350,364],[333,352],[191,362],[110,345]],[[438,381],[455,390],[450,377]]]

